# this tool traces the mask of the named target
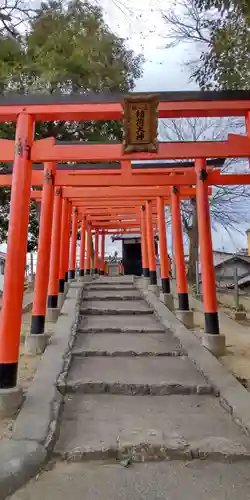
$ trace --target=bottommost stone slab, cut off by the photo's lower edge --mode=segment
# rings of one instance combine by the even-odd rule
[[[249,499],[249,468],[244,460],[233,464],[230,459],[227,463],[165,460],[131,466],[124,462],[55,461],[11,500]]]

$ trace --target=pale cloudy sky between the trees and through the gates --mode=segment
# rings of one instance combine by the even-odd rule
[[[136,84],[136,91],[195,90],[190,82],[185,63],[197,52],[189,45],[166,49],[167,27],[161,9],[173,5],[173,0],[93,0],[104,11],[107,24],[119,36],[126,39],[127,46],[145,57],[143,76]],[[249,224],[242,224],[239,231],[227,232],[222,227],[212,231],[213,248],[223,251],[237,251],[247,245],[245,230]],[[168,230],[171,251],[171,232]],[[5,250],[6,246],[2,247]],[[188,246],[186,244],[186,250]],[[121,244],[106,244],[106,252],[121,252]]]

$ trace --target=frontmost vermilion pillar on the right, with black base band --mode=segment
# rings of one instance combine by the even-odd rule
[[[195,170],[197,173],[196,200],[202,273],[202,293],[205,311],[205,332],[219,334],[206,160],[196,160]]]

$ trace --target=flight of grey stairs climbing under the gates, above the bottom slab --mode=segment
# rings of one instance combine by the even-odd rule
[[[55,454],[68,461],[242,460],[250,441],[132,279],[84,291]]]

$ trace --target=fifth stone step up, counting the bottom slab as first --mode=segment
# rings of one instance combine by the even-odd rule
[[[165,328],[153,314],[133,315],[90,315],[83,317],[78,327],[79,333],[156,333],[165,332]]]

